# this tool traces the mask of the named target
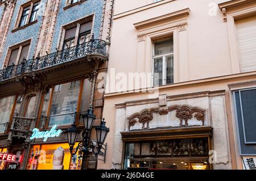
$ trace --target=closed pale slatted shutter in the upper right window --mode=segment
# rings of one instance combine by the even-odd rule
[[[242,72],[256,70],[256,16],[236,21]]]

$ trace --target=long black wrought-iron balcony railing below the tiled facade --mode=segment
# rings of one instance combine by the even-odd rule
[[[70,62],[90,54],[106,54],[106,43],[99,39],[90,39],[90,41],[76,45],[75,47],[63,49],[43,57],[36,57],[35,59],[23,60],[21,64],[12,65],[0,70],[0,81],[13,78],[23,73],[31,73],[36,70],[42,70],[51,66]]]

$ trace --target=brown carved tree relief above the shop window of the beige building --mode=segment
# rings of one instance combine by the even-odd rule
[[[188,120],[195,117],[197,120],[202,121],[204,125],[205,121],[205,111],[198,107],[191,107],[188,105],[175,105],[168,107],[168,109],[152,108],[150,110],[143,110],[140,113],[135,113],[128,117],[128,127],[133,127],[136,123],[142,123],[142,129],[149,129],[149,123],[154,118],[153,113],[158,113],[159,115],[167,115],[169,112],[176,111],[176,117],[180,120],[180,127],[183,127],[183,120],[185,121],[185,127],[188,127]],[[195,113],[195,115],[194,115]],[[145,125],[147,126],[145,127]]]

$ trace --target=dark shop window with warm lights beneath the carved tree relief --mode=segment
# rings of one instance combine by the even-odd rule
[[[125,169],[206,170],[208,138],[126,144]]]

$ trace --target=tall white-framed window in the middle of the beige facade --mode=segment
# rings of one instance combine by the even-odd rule
[[[154,86],[174,83],[174,40],[154,42],[153,49]]]

